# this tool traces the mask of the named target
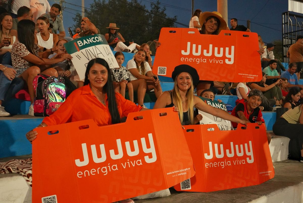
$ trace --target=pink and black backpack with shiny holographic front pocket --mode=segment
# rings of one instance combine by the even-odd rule
[[[36,97],[34,115],[52,115],[66,99],[65,80],[62,77],[50,77],[38,74],[33,80]]]

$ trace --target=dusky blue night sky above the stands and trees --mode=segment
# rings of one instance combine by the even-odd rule
[[[72,17],[77,12],[81,11],[81,0],[65,0],[63,3],[65,9],[63,11],[63,24],[66,35],[68,36],[67,28],[71,27],[74,22]],[[90,8],[93,0],[85,0],[85,7]],[[150,9],[150,3],[154,0],[142,0],[141,3]],[[49,1],[52,5],[55,1]],[[56,2],[58,3],[58,2]],[[160,0],[161,6],[166,7],[166,13],[169,17],[177,15],[177,21],[188,25],[191,19],[191,1],[187,0]],[[75,4],[75,5],[71,5]],[[162,5],[167,4],[167,5]],[[178,7],[178,8],[177,8]],[[73,10],[72,10],[73,9]],[[216,0],[195,0],[194,9],[204,11],[217,11]],[[251,20],[251,31],[262,36],[265,43],[282,38],[282,13],[288,11],[287,0],[228,0],[228,26],[231,18],[237,18],[239,25],[246,26],[246,21]],[[257,24],[256,24],[257,23]],[[259,24],[259,25],[258,25]],[[108,26],[108,25],[104,25]],[[184,27],[176,24],[177,27]],[[123,33],[121,31],[121,33]],[[104,34],[104,33],[101,33]]]

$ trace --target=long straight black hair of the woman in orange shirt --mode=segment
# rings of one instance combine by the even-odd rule
[[[109,109],[109,112],[112,117],[112,124],[120,123],[121,117],[118,112],[117,101],[116,101],[116,96],[115,96],[115,91],[114,91],[114,86],[113,86],[113,80],[112,80],[112,76],[111,76],[111,71],[109,69],[109,66],[108,66],[108,63],[106,62],[106,60],[104,60],[102,58],[95,58],[88,62],[86,71],[85,71],[84,85],[89,84],[88,73],[94,64],[101,64],[102,66],[106,67],[106,69],[107,69],[107,76],[108,76],[107,82],[103,86],[103,88],[105,88],[105,91],[107,94],[108,109]]]

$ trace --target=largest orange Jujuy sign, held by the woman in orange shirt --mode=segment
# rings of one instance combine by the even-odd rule
[[[172,108],[130,113],[125,123],[109,126],[85,120],[35,130],[34,203],[50,197],[58,202],[114,202],[160,191],[195,175]],[[54,132],[58,133],[50,135]]]

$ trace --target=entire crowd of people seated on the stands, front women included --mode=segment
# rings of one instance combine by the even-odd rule
[[[72,64],[72,56],[66,52],[64,46],[73,39],[65,37],[62,20],[58,18],[60,11],[60,5],[54,4],[48,13],[37,16],[36,22],[32,21],[32,11],[26,6],[18,9],[17,18],[13,19],[9,13],[0,15],[0,84],[2,84],[0,116],[10,115],[1,106],[2,102],[15,95],[23,86],[27,86],[32,104],[28,114],[34,115],[33,79],[42,73],[48,76],[67,77],[78,89],[68,96],[54,114],[45,117],[38,127],[92,118],[98,126],[120,123],[130,112],[148,110],[143,101],[145,93],[153,90],[157,98],[154,108],[175,107],[182,125],[198,124],[203,119],[201,115],[195,113],[195,109],[229,120],[235,128],[238,123],[246,125],[249,122],[257,122],[261,125],[265,122],[262,111],[275,111],[279,107],[284,107],[289,111],[277,120],[280,125],[275,124],[274,132],[291,139],[299,137],[297,129],[301,130],[301,125],[298,124],[303,123],[301,116],[303,85],[298,83],[297,73],[301,71],[302,65],[294,61],[289,64],[288,70],[285,70],[273,55],[272,50],[275,45],[268,43],[267,47],[263,48],[261,36],[259,36],[260,50],[257,50],[263,68],[261,81],[250,83],[203,81],[199,80],[194,67],[179,65],[172,73],[173,89],[162,92],[158,76],[152,72],[151,59],[160,42],[154,40],[140,46],[127,41],[121,33],[117,32],[119,28],[115,23],[110,23],[107,27],[108,33],[105,33],[105,39],[116,51],[115,58],[119,67],[110,69],[104,59],[95,58],[90,60],[86,67],[85,79],[80,80]],[[231,19],[230,30],[250,32],[248,28],[238,25],[237,22],[237,19]],[[198,29],[201,34],[213,35],[218,35],[223,29],[229,29],[220,13],[202,13],[199,9],[192,16],[190,27]],[[82,18],[81,29],[77,28],[76,31],[74,39],[100,34],[99,29],[87,17]],[[298,41],[303,46],[303,36],[298,36]],[[123,52],[135,53],[126,67],[122,66],[125,59]],[[292,55],[294,53],[290,51],[289,56]],[[233,91],[238,96],[236,106],[229,114],[207,105],[200,97],[194,95],[195,88],[198,96],[212,101],[215,99],[215,93],[229,95]],[[129,100],[125,99],[127,92]],[[134,99],[135,92],[137,92],[137,101]],[[94,105],[94,111],[90,111],[91,105]],[[83,106],[83,108],[75,110],[72,106]],[[285,126],[283,130],[282,126]],[[286,132],[289,128],[294,130]],[[298,135],[294,135],[295,133]],[[26,133],[30,142],[36,139],[37,135],[33,130]],[[269,133],[267,140],[268,143],[271,140]],[[303,162],[302,138],[298,139],[298,142],[301,149],[301,162]]]

